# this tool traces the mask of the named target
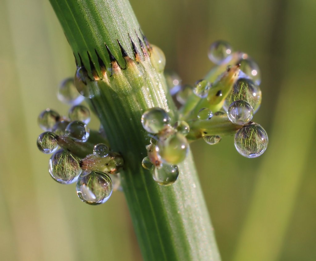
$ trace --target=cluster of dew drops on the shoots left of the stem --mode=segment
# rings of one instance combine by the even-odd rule
[[[60,116],[51,109],[40,113],[38,124],[45,132],[38,137],[37,147],[45,154],[52,154],[49,173],[54,180],[61,184],[76,182],[78,197],[90,205],[99,205],[109,199],[113,190],[121,189],[118,171],[123,166],[123,160],[106,144],[89,143],[89,137],[95,134],[90,133],[87,125],[90,111],[80,104],[84,98],[78,93],[74,78],[67,78],[61,83],[58,99],[71,108],[68,116]],[[96,135],[102,137],[102,128]],[[88,149],[92,154],[83,153],[86,156],[81,158],[73,153],[71,146],[74,146],[74,151]]]

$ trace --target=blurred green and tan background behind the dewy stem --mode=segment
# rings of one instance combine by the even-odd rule
[[[225,39],[261,68],[254,121],[267,151],[246,159],[233,137],[192,145],[223,261],[316,260],[316,1],[131,0],[167,69],[184,83],[212,64]],[[93,207],[54,182],[36,148],[40,111],[60,113],[72,53],[48,1],[0,0],[0,260],[141,260],[124,195]],[[97,126],[97,122],[92,124]]]

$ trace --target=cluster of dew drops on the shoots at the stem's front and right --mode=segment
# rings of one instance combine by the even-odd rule
[[[259,109],[262,98],[258,65],[246,53],[233,52],[226,41],[216,41],[211,44],[208,56],[216,64],[213,71],[218,72],[218,69],[222,67],[226,70],[234,64],[238,64],[240,70],[232,92],[224,100],[222,109],[213,113],[208,108],[201,108],[196,120],[212,120],[214,115],[227,114],[231,123],[241,126],[234,137],[237,151],[248,158],[262,155],[268,145],[268,136],[261,125],[251,122],[253,115]],[[174,72],[165,72],[165,76],[171,95],[177,103],[185,106],[191,95],[200,99],[208,98],[213,86],[221,81],[222,74],[219,73],[214,82],[203,79],[197,81],[195,86],[181,85],[180,77]],[[181,112],[181,108],[179,111]],[[189,145],[185,136],[190,131],[190,125],[181,118],[180,114],[179,121],[172,126],[168,113],[161,108],[151,108],[144,112],[141,122],[151,137],[142,166],[151,170],[158,184],[171,185],[179,177],[178,164],[188,153]],[[206,143],[213,145],[217,144],[221,137],[204,135],[203,139]]]

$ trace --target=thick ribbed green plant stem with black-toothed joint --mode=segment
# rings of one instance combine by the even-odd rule
[[[125,59],[117,40],[131,58],[134,57],[131,41],[141,50],[137,36],[142,34],[128,1],[50,2],[77,62],[82,59],[80,64],[90,77],[93,77],[93,69],[102,76],[96,53],[107,71],[112,68],[113,72],[116,65],[115,61],[111,62],[104,43],[122,67]],[[143,258],[218,261],[220,256],[191,152],[179,164],[178,181],[168,187],[157,185],[151,173],[142,168],[145,145],[149,144],[140,122],[142,113],[150,107],[161,107],[169,112],[173,122],[177,120],[177,113],[163,74],[153,68],[152,58],[146,59],[142,52],[139,54],[147,74],[142,86],[126,77],[130,70],[127,65],[125,70],[118,69],[117,75],[103,75],[103,80],[88,82],[88,86],[93,86],[91,104],[111,148],[121,153],[125,161],[122,185]],[[121,73],[125,75],[124,84],[119,80]]]

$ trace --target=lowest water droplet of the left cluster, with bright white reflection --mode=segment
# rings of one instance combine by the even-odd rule
[[[79,176],[76,189],[83,202],[99,205],[110,198],[113,191],[112,180],[106,173],[84,171]]]

